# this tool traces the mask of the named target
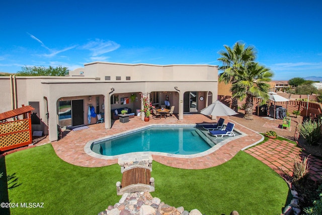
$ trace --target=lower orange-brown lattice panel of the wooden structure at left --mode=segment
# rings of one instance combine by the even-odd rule
[[[0,148],[23,144],[29,141],[31,141],[29,131],[3,135],[0,136]]]

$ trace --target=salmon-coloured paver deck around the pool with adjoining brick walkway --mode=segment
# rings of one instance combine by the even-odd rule
[[[232,140],[219,148],[217,151],[197,158],[174,158],[166,156],[152,155],[154,161],[162,163],[167,166],[184,168],[184,169],[205,169],[209,167],[218,166],[230,160],[241,149],[261,141],[263,136],[259,133],[241,125],[234,121],[236,117],[224,117],[225,122],[235,123],[235,128],[247,134],[247,136]],[[243,122],[243,119],[238,119]],[[248,120],[246,125],[252,123],[259,123],[257,127],[264,126],[265,122],[254,119]],[[119,120],[113,123],[111,129],[105,129],[104,124],[89,125],[89,129],[70,131],[64,138],[59,141],[52,142],[52,146],[56,154],[64,161],[77,166],[83,167],[101,167],[112,164],[117,164],[117,159],[99,159],[89,156],[85,153],[84,147],[89,140],[97,139],[103,136],[112,135],[119,132],[128,131],[133,128],[145,126],[147,124],[192,124],[213,122],[209,117],[202,114],[184,115],[184,120],[174,118],[162,118],[158,120],[151,119],[149,122],[144,122],[140,117],[131,118],[127,123],[121,123]],[[271,123],[268,121],[268,123]],[[276,123],[276,121],[274,122]],[[266,124],[267,126],[267,124]],[[249,127],[249,126],[248,126]],[[250,126],[252,127],[252,126]],[[253,126],[256,127],[256,126]],[[267,128],[265,128],[267,129]],[[294,129],[295,130],[295,129]],[[288,131],[293,133],[294,130]],[[291,134],[293,135],[293,134]],[[46,140],[43,140],[46,141]],[[307,156],[301,152],[301,149],[288,141],[280,141],[270,139],[262,145],[245,150],[245,152],[259,159],[267,164],[277,173],[285,176],[284,173],[292,175],[294,159],[300,156]],[[310,174],[312,179],[320,180],[322,174],[322,161],[314,156],[309,156]]]

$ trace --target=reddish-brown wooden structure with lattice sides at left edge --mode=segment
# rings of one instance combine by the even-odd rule
[[[0,113],[0,152],[32,143],[31,111],[33,107],[23,106],[14,110]],[[19,119],[19,116],[23,116]],[[13,121],[7,119],[13,118]]]

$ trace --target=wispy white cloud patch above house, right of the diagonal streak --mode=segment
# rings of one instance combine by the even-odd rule
[[[87,44],[83,45],[82,49],[87,49],[93,52],[92,56],[98,56],[101,54],[105,54],[111,51],[114,51],[120,47],[119,44],[117,44],[114,41],[104,41],[100,39],[96,39],[95,41],[90,41]]]

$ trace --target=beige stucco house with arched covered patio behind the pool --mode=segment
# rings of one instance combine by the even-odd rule
[[[156,107],[169,101],[179,120],[200,112],[217,99],[218,66],[91,62],[66,77],[0,77],[0,89],[0,112],[31,105],[32,129],[55,141],[57,126],[96,123],[95,117],[88,120],[89,107],[104,115],[106,129],[115,109],[128,108],[140,117],[146,96]]]

